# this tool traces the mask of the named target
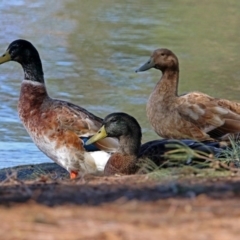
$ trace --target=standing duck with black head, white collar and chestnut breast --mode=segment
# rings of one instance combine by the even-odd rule
[[[18,114],[36,146],[65,168],[71,179],[103,171],[109,155],[118,148],[118,141],[106,138],[92,147],[85,145],[103,119],[78,105],[48,95],[40,55],[31,42],[13,41],[0,57],[0,64],[8,61],[18,62],[24,72]]]

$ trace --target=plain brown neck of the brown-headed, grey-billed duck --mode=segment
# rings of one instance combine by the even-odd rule
[[[169,70],[163,71],[162,77],[156,85],[155,90],[158,94],[165,95],[169,97],[176,97],[178,91],[178,78],[179,70]]]

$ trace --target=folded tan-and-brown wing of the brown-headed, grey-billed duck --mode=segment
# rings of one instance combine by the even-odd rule
[[[178,113],[194,127],[212,138],[240,132],[240,114],[231,110],[227,102],[203,93],[189,93],[177,98]],[[194,133],[193,133],[194,136]]]

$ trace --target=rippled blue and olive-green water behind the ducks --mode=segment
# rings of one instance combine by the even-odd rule
[[[140,122],[145,142],[158,137],[145,105],[160,73],[134,70],[155,48],[178,56],[180,93],[199,90],[240,101],[239,11],[238,0],[3,0],[0,54],[17,38],[31,41],[52,97],[100,117],[130,113]],[[51,161],[18,119],[20,65],[6,63],[0,72],[0,168]]]

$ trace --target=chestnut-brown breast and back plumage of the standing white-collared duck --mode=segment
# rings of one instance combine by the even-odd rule
[[[102,124],[101,118],[84,108],[48,97],[45,86],[40,84],[22,84],[18,110],[30,135],[35,134],[35,137],[40,138],[47,134],[55,139],[58,136],[60,140],[65,133],[66,138],[69,139],[71,133],[71,142],[74,144],[79,144],[81,136],[95,134]],[[80,143],[82,148],[82,142]],[[107,138],[99,141],[97,145],[101,150],[115,151],[118,141]]]

